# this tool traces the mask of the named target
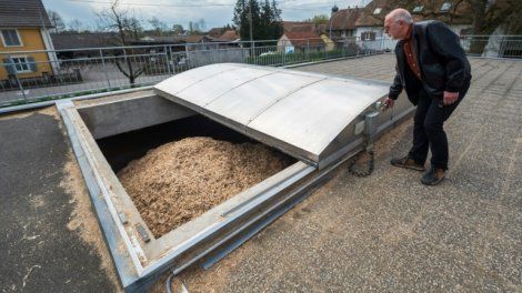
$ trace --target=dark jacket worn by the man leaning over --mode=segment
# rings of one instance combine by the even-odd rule
[[[458,92],[471,79],[471,65],[459,37],[440,21],[413,23],[413,50],[421,69],[422,82],[413,75],[404,57],[404,41],[395,47],[396,75],[389,97],[395,100],[405,89],[413,104],[419,101],[419,85],[432,98],[442,99],[443,92]],[[415,80],[416,79],[416,80]]]

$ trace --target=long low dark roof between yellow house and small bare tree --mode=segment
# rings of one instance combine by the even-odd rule
[[[116,32],[64,32],[51,34],[56,50],[118,46]]]

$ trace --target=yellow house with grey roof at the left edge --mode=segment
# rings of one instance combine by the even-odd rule
[[[41,0],[0,1],[0,83],[4,89],[58,70],[50,28]]]

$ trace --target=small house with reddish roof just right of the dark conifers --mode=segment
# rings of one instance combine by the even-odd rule
[[[284,50],[287,53],[304,53],[313,51],[324,51],[327,44],[315,32],[285,32],[278,40],[278,50]]]

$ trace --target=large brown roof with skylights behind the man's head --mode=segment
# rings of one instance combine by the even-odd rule
[[[382,27],[385,16],[395,8],[410,11],[414,21],[440,20],[448,24],[471,24],[470,0],[460,1],[458,6],[452,0],[373,0],[362,9],[355,27]],[[448,11],[443,10],[444,3],[450,4]]]

